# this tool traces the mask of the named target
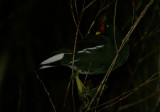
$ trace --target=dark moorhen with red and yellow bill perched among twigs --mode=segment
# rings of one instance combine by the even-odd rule
[[[115,32],[117,48],[120,47],[123,37],[119,31]],[[96,34],[89,34],[86,39],[77,41],[77,47],[74,59],[75,80],[80,93],[86,90],[79,79],[79,74],[102,74],[107,71],[113,58],[116,55],[113,25],[102,23]],[[115,66],[112,70],[120,67],[126,62],[129,55],[129,46],[126,44],[121,50]],[[66,46],[63,49],[54,52],[54,55],[40,64],[40,69],[46,69],[57,66],[67,66],[72,69],[73,45]]]

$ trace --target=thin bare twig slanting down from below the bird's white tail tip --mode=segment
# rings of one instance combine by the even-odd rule
[[[36,74],[36,76],[37,76],[37,79],[38,79],[38,80],[40,81],[40,83],[42,84],[45,92],[47,93],[48,98],[49,98],[49,101],[50,101],[50,103],[51,103],[51,105],[52,105],[52,107],[53,107],[54,112],[56,112],[56,107],[55,107],[55,105],[54,105],[54,103],[53,103],[53,101],[52,101],[52,98],[51,98],[51,95],[50,95],[49,91],[48,91],[47,88],[45,87],[45,85],[44,85],[43,81],[41,80],[41,78],[39,77],[38,73],[37,73],[36,71],[34,71],[34,72],[35,72],[35,74]]]

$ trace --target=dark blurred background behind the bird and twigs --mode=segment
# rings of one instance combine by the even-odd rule
[[[86,1],[87,4],[92,0]],[[116,26],[123,36],[129,31],[149,0],[119,0]],[[80,30],[85,35],[98,10],[108,4],[98,18],[106,17],[113,23],[115,1],[95,0],[84,12]],[[74,41],[75,23],[69,0],[1,0],[0,1],[0,111],[53,112],[48,96],[35,70],[51,94],[57,112],[61,112],[71,70],[65,67],[39,71],[41,61],[51,52]],[[81,12],[83,1],[77,1]],[[95,32],[101,19],[96,20]],[[80,36],[79,36],[80,37]],[[127,62],[113,71],[107,82],[100,104],[127,91],[128,97],[105,108],[104,112],[159,112],[160,111],[160,1],[154,0],[129,40]],[[104,74],[90,76],[98,85]],[[83,77],[82,77],[83,78]],[[149,80],[150,79],[150,80]],[[139,86],[145,81],[143,86]],[[76,97],[76,89],[75,89]],[[113,103],[113,102],[112,102]],[[107,106],[110,104],[104,105]],[[99,107],[98,109],[102,109]],[[69,91],[65,112],[72,112]]]

